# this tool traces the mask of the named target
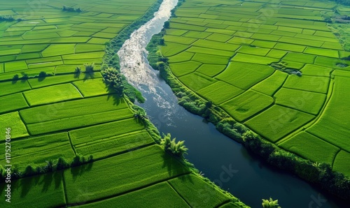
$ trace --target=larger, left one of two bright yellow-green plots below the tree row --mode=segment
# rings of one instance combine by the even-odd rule
[[[41,89],[25,91],[23,94],[30,106],[83,98],[73,84],[57,84]]]

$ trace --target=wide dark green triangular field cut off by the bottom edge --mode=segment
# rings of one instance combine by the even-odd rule
[[[79,207],[189,207],[181,196],[174,191],[174,188],[167,182],[155,184],[146,188],[142,188],[132,193],[120,195],[116,198],[94,202],[92,204],[82,205]]]

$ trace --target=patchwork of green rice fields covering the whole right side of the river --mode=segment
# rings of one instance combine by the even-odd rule
[[[265,140],[350,176],[350,52],[322,16],[335,6],[186,0],[161,53],[182,84]]]

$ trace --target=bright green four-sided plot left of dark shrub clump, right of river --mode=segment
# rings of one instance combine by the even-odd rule
[[[231,62],[228,68],[216,76],[241,89],[248,89],[274,73],[274,68],[260,64]]]

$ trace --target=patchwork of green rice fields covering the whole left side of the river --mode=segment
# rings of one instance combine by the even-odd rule
[[[63,5],[71,1],[0,3],[0,15],[14,19],[0,22],[0,126],[10,128],[13,176],[36,172],[11,181],[10,205],[244,207],[165,153],[158,131],[102,80],[106,43],[155,1]]]

